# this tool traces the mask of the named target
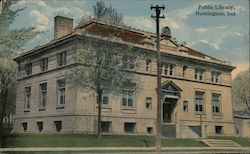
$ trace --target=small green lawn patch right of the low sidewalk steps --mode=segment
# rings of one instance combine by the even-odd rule
[[[216,137],[214,136],[214,137],[210,137],[210,138],[233,140],[243,147],[250,147],[250,138],[234,137],[234,136],[216,136]]]

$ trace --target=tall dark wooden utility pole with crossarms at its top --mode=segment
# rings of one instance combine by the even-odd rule
[[[165,18],[164,15],[161,16],[161,10],[164,10],[163,6],[153,6],[151,5],[150,9],[155,10],[155,16],[151,15],[153,19],[156,21],[156,48],[157,48],[157,117],[156,117],[156,152],[161,151],[161,52],[160,52],[160,34],[159,34],[159,19]]]

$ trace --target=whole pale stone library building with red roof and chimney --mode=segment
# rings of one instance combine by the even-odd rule
[[[72,19],[55,17],[55,38],[15,59],[18,85],[14,131],[96,132],[96,96],[72,87],[65,75],[77,67],[75,40],[82,36],[102,39],[112,35],[118,38],[116,43],[132,45],[145,55],[140,65],[131,68],[139,75],[143,89],[132,97],[103,96],[102,131],[155,134],[155,34],[95,20],[72,27]],[[168,28],[163,29],[160,45],[162,135],[177,138],[235,135],[231,95],[231,71],[235,67],[185,43],[177,43]]]

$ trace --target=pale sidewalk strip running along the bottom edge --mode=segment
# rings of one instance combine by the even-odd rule
[[[1,152],[147,152],[155,147],[27,147],[0,148]],[[162,147],[162,153],[250,153],[250,147]]]

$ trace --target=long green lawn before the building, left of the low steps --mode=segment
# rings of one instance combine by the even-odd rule
[[[8,147],[152,147],[153,136],[94,135],[83,134],[12,134]],[[163,147],[204,147],[194,139],[163,138]]]

